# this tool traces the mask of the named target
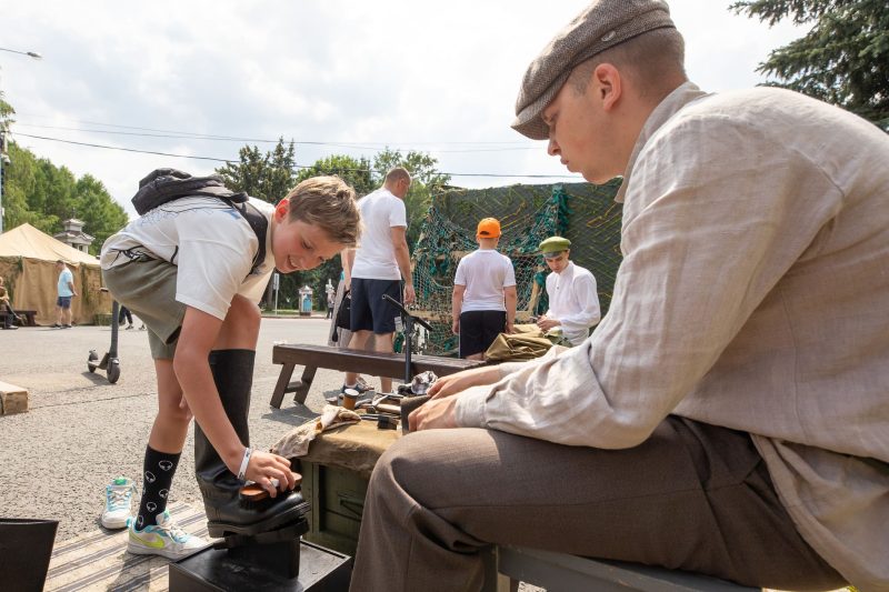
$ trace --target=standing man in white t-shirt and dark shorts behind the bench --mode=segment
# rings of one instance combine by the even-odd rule
[[[358,201],[364,231],[351,262],[352,338],[349,348],[379,352],[392,351],[398,309],[382,299],[388,294],[410,304],[413,302],[413,279],[410,273],[410,251],[404,238],[408,215],[404,195],[410,189],[410,173],[400,167],[386,175],[383,185]],[[350,257],[343,258],[350,264]],[[401,281],[404,298],[401,298]],[[370,337],[373,335],[373,344]],[[358,387],[358,374],[346,373],[342,390]],[[382,392],[392,390],[392,379],[380,377]]]

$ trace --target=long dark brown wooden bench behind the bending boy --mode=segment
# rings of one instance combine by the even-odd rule
[[[293,402],[304,404],[306,397],[308,397],[309,389],[314,380],[314,373],[319,368],[374,377],[404,377],[404,355],[400,353],[283,343],[274,345],[271,361],[276,364],[282,364],[278,383],[274,385],[274,392],[269,402],[276,409],[281,409],[284,394],[289,392],[296,393]],[[485,364],[485,362],[478,360],[440,358],[438,355],[411,355],[410,362],[411,375],[431,370],[438,377],[447,377],[461,370]],[[302,377],[298,381],[290,382],[293,369],[297,365],[304,367]]]

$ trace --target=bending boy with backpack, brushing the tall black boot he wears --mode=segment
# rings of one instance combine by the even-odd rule
[[[318,267],[357,242],[360,223],[354,191],[336,177],[308,179],[273,207],[233,193],[219,177],[159,169],[140,182],[133,203],[141,198],[156,205],[110,237],[101,252],[109,291],[149,329],[158,377],[158,415],[128,550],[178,560],[206,545],[166,511],[192,413],[211,536],[272,530],[302,511],[302,498],[291,491],[290,462],[249,446],[257,302],[273,269]],[[243,508],[238,494],[247,480],[276,503]],[[117,519],[121,506],[128,513],[132,489],[129,480],[108,486],[103,524],[127,525]]]

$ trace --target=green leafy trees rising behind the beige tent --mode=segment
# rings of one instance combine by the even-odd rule
[[[84,222],[83,231],[96,237],[90,253],[98,254],[104,240],[127,223],[127,212],[94,177],[77,179],[16,142],[9,144],[9,159],[3,165],[4,230],[27,222],[56,234],[64,220],[77,218]]]

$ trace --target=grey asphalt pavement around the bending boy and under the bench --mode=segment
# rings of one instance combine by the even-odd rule
[[[272,344],[327,343],[329,323],[262,320],[250,412],[253,445],[268,448],[319,412],[326,391],[339,391],[342,374],[319,370],[307,407],[289,397],[282,409],[269,407],[280,369],[271,363]],[[0,417],[0,516],[59,520],[57,542],[98,526],[104,485],[113,476],[124,474],[141,485],[157,409],[153,363],[146,333],[121,331],[118,383],[109,384],[101,371],[89,373],[89,350],[101,357],[110,335],[107,327],[0,331],[0,380],[30,393],[30,411]],[[200,505],[192,442],[189,430],[171,499]]]

